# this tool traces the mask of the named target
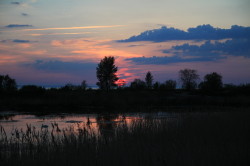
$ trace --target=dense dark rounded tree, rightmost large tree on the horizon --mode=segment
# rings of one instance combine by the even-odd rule
[[[222,76],[216,72],[204,76],[204,81],[199,85],[202,90],[216,91],[222,89]]]

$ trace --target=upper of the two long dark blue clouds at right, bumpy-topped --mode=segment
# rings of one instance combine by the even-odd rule
[[[132,36],[118,42],[152,41],[163,42],[169,40],[219,40],[227,38],[250,38],[250,27],[238,25],[231,26],[230,29],[214,28],[213,26],[199,25],[183,31],[176,28],[162,26],[160,29],[153,29],[142,32],[137,36]]]

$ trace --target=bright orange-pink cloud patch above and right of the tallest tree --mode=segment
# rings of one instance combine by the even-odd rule
[[[119,67],[118,77],[130,82],[135,78],[133,72],[129,70],[137,70],[134,65],[131,65],[126,58],[141,57],[143,54],[127,51],[125,48],[120,49],[113,47],[113,42],[110,40],[93,40],[93,39],[74,39],[74,40],[53,40],[51,45],[55,49],[64,50],[68,55],[64,60],[87,60],[98,63],[104,56],[114,56],[116,65]]]

